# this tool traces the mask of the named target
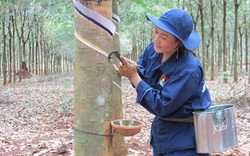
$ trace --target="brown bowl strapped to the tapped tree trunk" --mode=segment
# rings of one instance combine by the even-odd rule
[[[118,119],[111,122],[114,132],[122,136],[133,136],[141,131],[142,122],[137,120]]]

